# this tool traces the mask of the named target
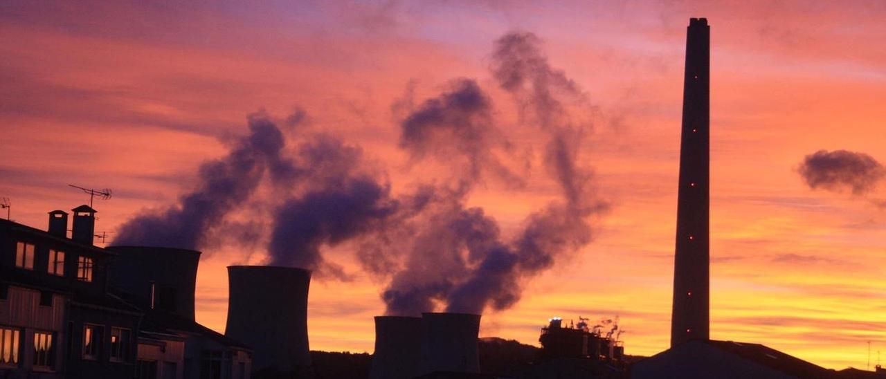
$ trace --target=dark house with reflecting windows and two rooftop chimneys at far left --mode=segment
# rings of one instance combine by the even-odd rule
[[[0,377],[130,378],[142,312],[107,292],[116,255],[92,245],[96,211],[49,231],[0,220]],[[9,375],[9,376],[7,376]]]

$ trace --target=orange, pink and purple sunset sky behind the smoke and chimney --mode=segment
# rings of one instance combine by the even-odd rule
[[[608,206],[588,244],[484,313],[480,335],[538,344],[552,316],[618,316],[626,353],[654,354],[669,344],[690,17],[711,25],[711,338],[832,368],[866,367],[869,342],[873,367],[886,352],[886,190],[811,186],[800,168],[820,150],[886,160],[882,2],[4,2],[0,197],[12,220],[46,228],[47,212],[89,200],[67,184],[110,188],[95,205],[109,243],[193,191],[251,114],[285,125],[293,112],[305,116],[281,128],[287,141],[335,135],[407,193],[451,173],[403,149],[404,104],[468,78],[525,183],[487,177],[466,202],[513,236],[557,192],[534,143],[544,131],[524,128],[491,69],[496,41],[531,33],[581,94],[577,157]],[[279,196],[264,185],[233,205],[230,218],[259,226],[253,243],[201,247],[199,322],[224,329],[226,266],[268,262],[265,205]],[[367,273],[352,244],[320,249],[345,275],[315,275],[311,348],[371,352],[390,277]]]

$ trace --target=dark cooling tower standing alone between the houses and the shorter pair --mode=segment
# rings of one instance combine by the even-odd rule
[[[225,336],[253,349],[253,372],[299,377],[309,371],[307,288],[311,272],[270,266],[228,267]]]

